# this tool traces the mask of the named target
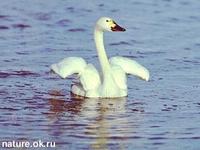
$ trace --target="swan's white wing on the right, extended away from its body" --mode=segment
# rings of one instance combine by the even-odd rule
[[[138,76],[146,81],[149,80],[149,71],[134,60],[117,56],[110,58],[110,63],[120,66],[127,74]]]

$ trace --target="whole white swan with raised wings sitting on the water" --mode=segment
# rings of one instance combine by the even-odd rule
[[[72,74],[78,75],[80,82],[71,86],[71,92],[75,95],[89,98],[126,97],[127,74],[149,80],[149,71],[136,61],[121,56],[108,59],[103,41],[105,31],[126,30],[109,17],[101,17],[97,20],[94,40],[102,71],[100,74],[92,64],[81,57],[67,57],[51,65],[51,70],[61,78],[67,78]]]

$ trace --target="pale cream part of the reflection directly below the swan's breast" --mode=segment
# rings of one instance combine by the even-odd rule
[[[93,105],[90,105],[91,101],[94,101]],[[125,128],[119,127],[121,127],[121,123],[127,122],[122,117],[125,113],[125,102],[126,98],[86,100],[86,103],[84,103],[87,105],[86,107],[90,107],[90,109],[93,110],[83,113],[89,117],[95,115],[96,118],[95,122],[89,124],[86,128],[87,135],[96,135],[96,139],[91,144],[92,149],[109,149],[108,144],[111,143],[110,140],[113,140],[115,138],[123,139],[124,135],[122,133]],[[94,104],[96,104],[97,106],[96,109]],[[118,132],[113,133],[112,130]]]

